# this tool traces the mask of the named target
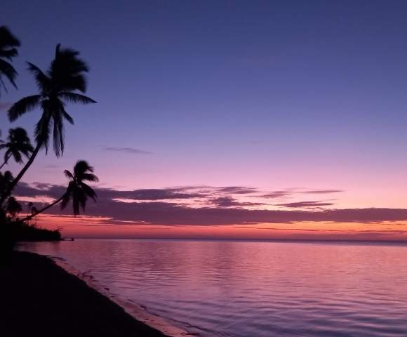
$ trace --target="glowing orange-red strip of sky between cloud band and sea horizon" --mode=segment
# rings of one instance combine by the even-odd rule
[[[248,225],[149,225],[109,223],[110,218],[39,216],[38,225],[62,229],[63,237],[128,239],[311,239],[407,241],[407,221],[366,223],[291,223]]]

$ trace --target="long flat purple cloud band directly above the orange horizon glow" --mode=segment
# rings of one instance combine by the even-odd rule
[[[124,203],[98,200],[88,204],[86,215],[112,218],[109,223],[133,221],[150,225],[253,225],[260,223],[380,223],[407,220],[407,209],[328,209],[280,211],[226,207],[195,208],[164,201]],[[52,213],[58,213],[54,209]],[[70,213],[67,209],[65,214]]]

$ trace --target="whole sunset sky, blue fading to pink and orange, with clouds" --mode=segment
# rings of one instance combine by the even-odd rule
[[[18,1],[0,24],[26,61],[55,45],[90,65],[66,150],[37,157],[21,201],[63,193],[86,159],[100,183],[84,217],[38,220],[67,236],[407,239],[406,1]],[[19,166],[9,169],[18,172]]]

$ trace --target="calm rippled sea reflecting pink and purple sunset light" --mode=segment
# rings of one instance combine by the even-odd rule
[[[200,336],[407,336],[407,246],[26,244]]]

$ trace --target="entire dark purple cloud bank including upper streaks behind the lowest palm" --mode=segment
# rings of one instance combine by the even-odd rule
[[[224,188],[224,187],[220,187]],[[331,206],[324,201],[300,201],[283,204],[293,209],[270,210],[253,209],[257,203],[245,203],[233,197],[216,197],[219,187],[213,187],[215,194],[204,194],[192,187],[174,187],[164,189],[112,190],[95,188],[98,202],[89,201],[86,216],[102,217],[111,224],[150,224],[150,225],[255,225],[261,223],[298,223],[298,222],[333,222],[333,223],[382,223],[385,221],[407,221],[407,209],[315,209]],[[18,197],[58,198],[65,192],[60,185],[20,183],[15,190]],[[204,205],[179,204],[177,199],[201,199]],[[123,202],[130,199],[132,202]],[[248,209],[244,208],[249,206]],[[314,207],[314,209],[296,209]],[[68,216],[72,210],[68,207],[60,211],[58,207],[49,209],[48,214]]]

